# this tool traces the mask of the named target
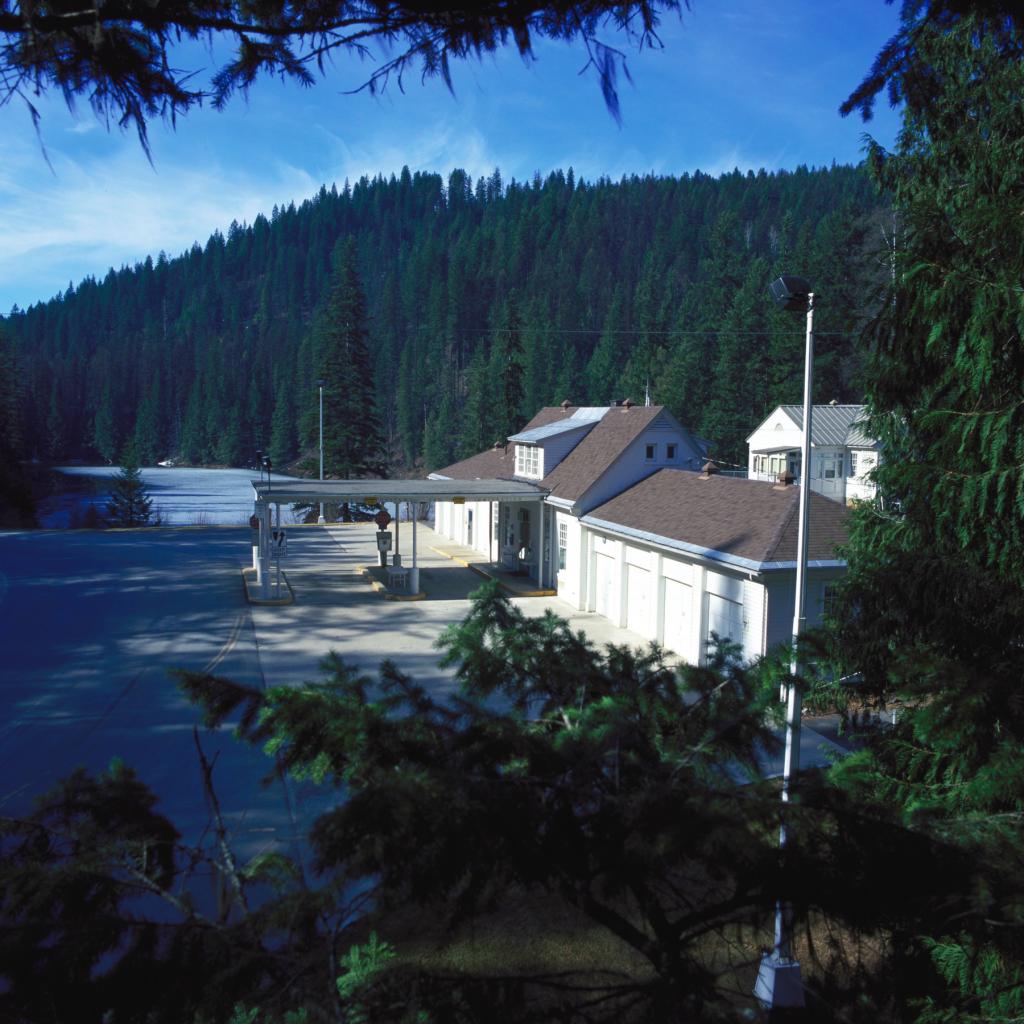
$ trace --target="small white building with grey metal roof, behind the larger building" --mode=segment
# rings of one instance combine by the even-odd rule
[[[837,502],[874,497],[870,472],[879,442],[864,431],[864,406],[815,406],[811,417],[811,489]],[[746,438],[748,475],[774,482],[788,470],[801,476],[803,406],[779,406]]]

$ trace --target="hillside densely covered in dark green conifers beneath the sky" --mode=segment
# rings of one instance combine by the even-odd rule
[[[860,397],[854,331],[888,271],[887,219],[849,167],[475,185],[406,170],[325,187],[13,310],[25,455],[116,461],[134,441],[143,463],[246,465],[263,449],[288,464],[314,443],[311,327],[352,237],[393,468],[443,465],[563,398],[642,401],[648,384],[735,462],[767,410],[800,398],[802,322],[766,300],[778,272],[821,296],[816,397]]]

